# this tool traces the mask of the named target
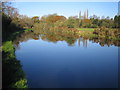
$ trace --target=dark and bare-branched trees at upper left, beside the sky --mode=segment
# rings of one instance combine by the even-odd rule
[[[25,15],[20,15],[17,8],[9,2],[2,2],[2,41],[6,41],[12,33],[31,28],[33,20]]]

